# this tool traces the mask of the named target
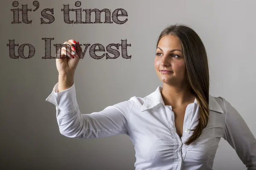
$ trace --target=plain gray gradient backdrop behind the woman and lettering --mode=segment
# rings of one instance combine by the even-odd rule
[[[27,3],[28,8],[34,9],[32,2],[19,0],[19,7]],[[75,2],[39,0],[39,9],[29,11],[32,24],[11,24],[10,9],[15,7],[12,1],[1,2],[1,168],[135,169],[134,146],[128,136],[72,139],[59,133],[55,105],[45,101],[58,82],[58,71],[55,59],[42,59],[44,37],[54,38],[52,56],[55,56],[53,43],[70,39],[105,47],[121,43],[121,39],[131,43],[127,48],[131,59],[120,56],[97,60],[87,51],[80,60],[75,75],[76,96],[81,113],[87,114],[132,96],[145,97],[158,85],[162,86],[154,68],[157,37],[170,24],[186,24],[199,34],[207,49],[209,94],[229,101],[256,136],[255,0],[83,0],[83,9],[108,8],[112,13],[116,8],[123,8],[128,12],[128,21],[123,25],[66,24],[62,5],[70,3],[70,8],[75,8]],[[44,8],[54,8],[54,23],[40,24]],[[75,19],[75,12],[70,13],[70,18]],[[91,21],[94,22],[94,15]],[[35,56],[10,58],[6,46],[9,39],[15,39],[19,45],[32,44]],[[28,55],[28,48],[25,49]],[[15,51],[17,55],[17,47]],[[245,170],[246,167],[222,138],[213,169]]]

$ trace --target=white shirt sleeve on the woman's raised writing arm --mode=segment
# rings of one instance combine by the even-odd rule
[[[134,100],[108,106],[99,112],[81,114],[76,101],[75,82],[58,92],[58,83],[46,101],[56,106],[60,133],[70,138],[101,138],[116,134],[128,135],[127,121]]]

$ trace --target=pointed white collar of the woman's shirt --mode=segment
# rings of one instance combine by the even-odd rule
[[[153,93],[146,96],[145,102],[142,105],[140,111],[143,112],[145,110],[154,108],[155,106],[157,106],[159,104],[164,105],[163,98],[162,98],[162,95],[161,95],[162,90],[163,90],[163,87],[158,86],[157,89]],[[195,99],[194,103],[196,105],[198,105],[198,102],[197,102],[196,99]],[[209,110],[224,113],[221,106],[218,104],[218,102],[211,95],[209,95]]]

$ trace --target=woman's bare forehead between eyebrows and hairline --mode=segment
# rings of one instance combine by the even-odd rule
[[[173,35],[166,35],[160,39],[157,47],[160,47],[162,50],[172,50],[179,49],[182,51],[182,45],[180,40]]]

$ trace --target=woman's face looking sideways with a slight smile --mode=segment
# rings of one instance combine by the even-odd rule
[[[182,84],[186,75],[182,45],[177,37],[166,35],[158,43],[154,66],[159,79],[169,85]],[[160,70],[172,71],[164,74]]]

